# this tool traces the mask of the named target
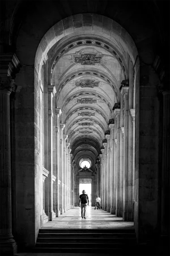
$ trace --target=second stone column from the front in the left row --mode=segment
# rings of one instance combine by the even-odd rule
[[[56,116],[56,217],[60,215],[59,208],[59,116],[61,115],[61,109],[55,109]]]

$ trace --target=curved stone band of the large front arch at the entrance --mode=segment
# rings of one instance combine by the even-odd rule
[[[76,18],[76,16],[77,15],[72,15],[68,18],[60,20],[57,24],[51,27],[41,39],[35,57],[35,68],[39,74],[39,79],[41,65],[43,64],[44,60],[46,61],[46,59],[48,59],[47,54],[50,48],[52,48],[54,44],[56,44],[63,37],[71,34],[74,35],[74,33],[80,31],[81,29],[84,34],[101,35],[105,38],[109,38],[110,40],[112,40],[112,38],[113,40],[116,39],[117,42],[120,42],[122,48],[129,53],[133,63],[135,63],[135,59],[138,55],[137,48],[129,33],[123,27],[121,27],[120,24],[112,19],[98,14],[79,14],[79,23],[76,24],[75,27],[74,18]],[[110,30],[105,27],[105,24],[108,23],[112,24]]]

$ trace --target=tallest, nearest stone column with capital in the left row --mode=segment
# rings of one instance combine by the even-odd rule
[[[48,85],[48,189],[49,189],[49,220],[56,214],[53,212],[53,97],[56,93],[54,85]]]

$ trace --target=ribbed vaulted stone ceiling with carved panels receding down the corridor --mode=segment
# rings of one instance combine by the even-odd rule
[[[127,53],[109,36],[82,33],[59,40],[48,57],[67,142],[74,155],[89,151],[97,156],[127,77]]]

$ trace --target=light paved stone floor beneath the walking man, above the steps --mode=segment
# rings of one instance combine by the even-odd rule
[[[87,207],[86,219],[81,217],[80,207],[68,210],[66,213],[47,222],[43,229],[126,229],[134,228],[133,222],[123,221],[105,210],[95,210]]]

